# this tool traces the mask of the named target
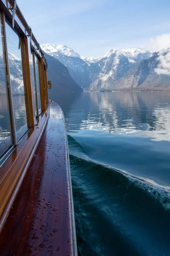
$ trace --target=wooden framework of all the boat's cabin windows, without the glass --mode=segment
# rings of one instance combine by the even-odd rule
[[[16,10],[16,19],[20,25],[18,25],[17,21],[14,20],[14,28],[12,27],[12,12],[2,1],[0,1],[0,13],[3,17],[3,31],[5,33],[4,40],[6,41],[6,28],[5,23],[7,23],[11,29],[19,36],[20,38],[20,49],[21,49],[21,59],[22,59],[22,68],[23,68],[23,82],[24,82],[24,90],[25,90],[25,102],[26,102],[26,117],[27,117],[27,126],[28,130],[25,134],[17,141],[16,139],[16,129],[14,122],[14,109],[12,104],[12,93],[11,93],[11,83],[10,83],[10,72],[9,72],[9,63],[8,63],[8,49],[6,44],[6,51],[4,53],[4,58],[6,60],[6,71],[5,77],[6,80],[6,88],[7,90],[7,101],[8,101],[8,116],[10,117],[10,137],[11,137],[11,146],[3,151],[3,154],[0,156],[0,168],[6,162],[11,153],[16,149],[17,145],[20,141],[25,140],[26,134],[29,134],[29,131],[33,132],[35,126],[37,126],[42,119],[43,114],[40,115],[35,120],[34,113],[34,98],[32,94],[31,87],[31,77],[30,77],[30,68],[29,68],[29,49],[30,51],[34,49],[34,53],[38,59],[38,72],[39,72],[39,85],[40,85],[40,101],[41,101],[41,113],[45,113],[48,109],[48,90],[47,90],[47,63],[44,57],[44,53],[40,48],[36,38],[31,32],[31,28],[26,23],[22,13],[19,9]],[[29,44],[29,40],[31,44]],[[5,44],[4,44],[5,45]],[[33,47],[34,45],[34,47]],[[30,47],[28,49],[28,47]],[[38,51],[37,51],[38,50]],[[39,52],[39,53],[38,53]],[[33,58],[34,59],[34,58]],[[8,80],[8,81],[7,81]],[[45,114],[46,116],[46,114]],[[33,128],[31,130],[30,128]]]

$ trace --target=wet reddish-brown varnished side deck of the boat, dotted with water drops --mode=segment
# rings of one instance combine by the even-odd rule
[[[72,256],[73,233],[64,115],[55,102],[0,234],[1,256]]]

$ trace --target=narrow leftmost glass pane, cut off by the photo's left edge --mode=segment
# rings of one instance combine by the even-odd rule
[[[9,129],[9,115],[8,102],[6,93],[6,78],[3,60],[3,28],[0,20],[0,156],[11,145],[10,129]]]

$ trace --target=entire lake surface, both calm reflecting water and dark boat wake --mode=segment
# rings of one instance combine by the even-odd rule
[[[169,256],[170,93],[51,99],[65,114],[79,255]]]

